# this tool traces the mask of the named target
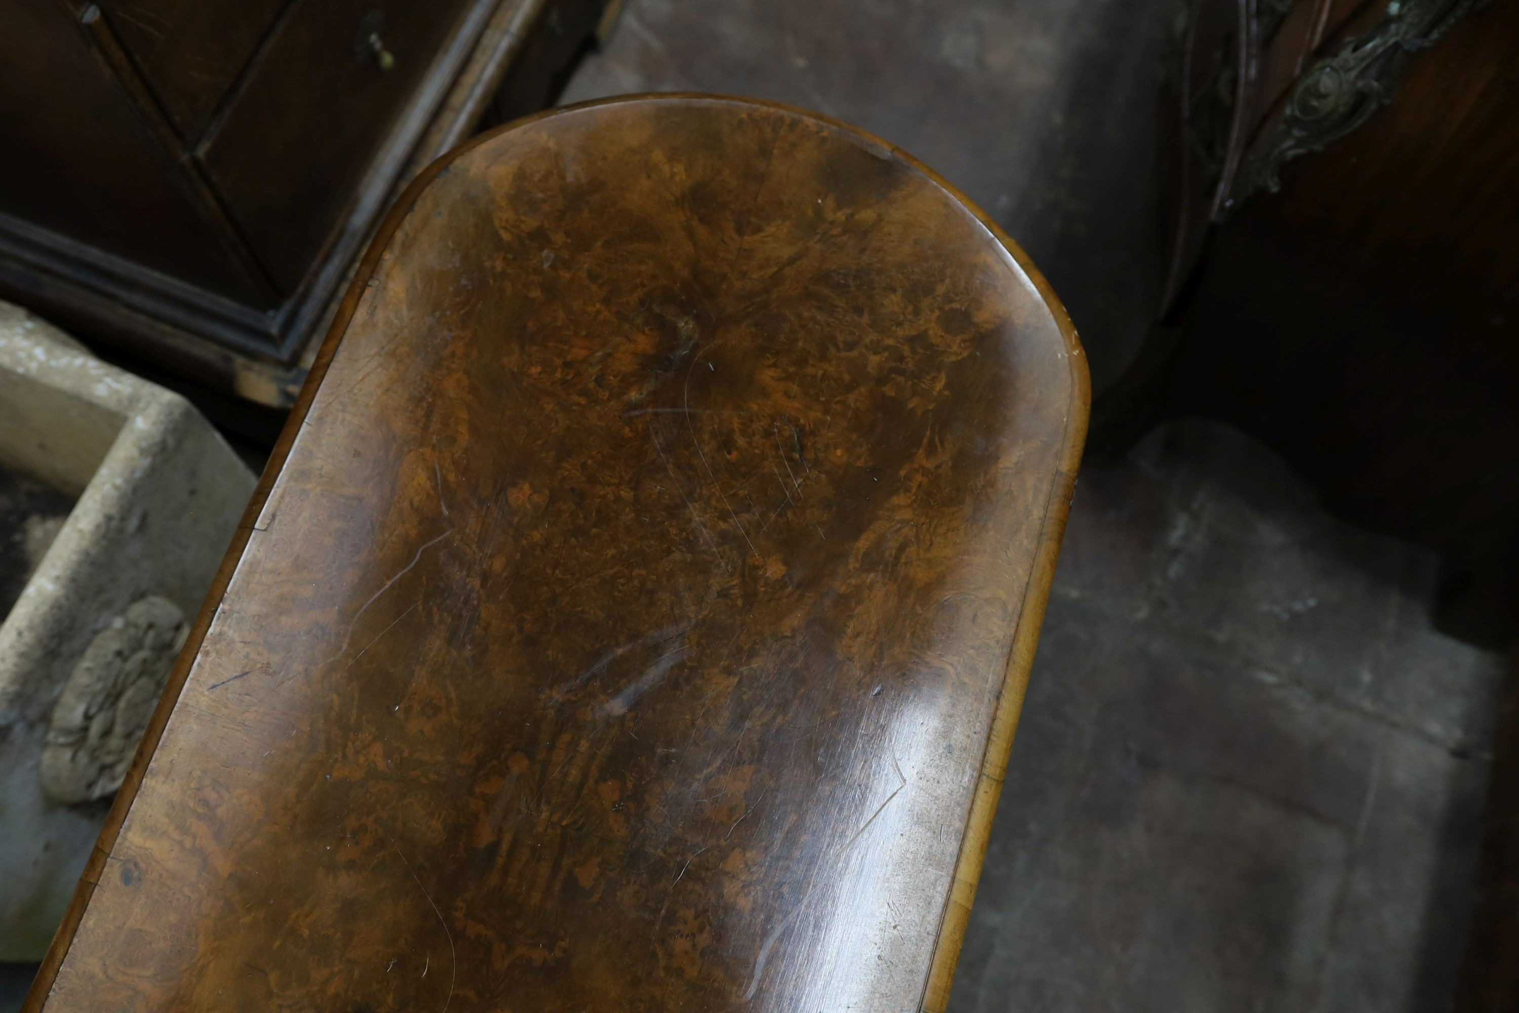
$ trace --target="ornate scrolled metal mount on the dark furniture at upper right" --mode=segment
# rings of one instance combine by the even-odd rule
[[[1282,166],[1322,152],[1391,102],[1414,53],[1440,41],[1467,14],[1492,0],[1391,0],[1382,20],[1346,39],[1299,79],[1274,135],[1246,166],[1233,194],[1238,204],[1258,190],[1281,188]]]

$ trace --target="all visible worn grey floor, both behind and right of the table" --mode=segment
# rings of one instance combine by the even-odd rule
[[[987,208],[1101,389],[1153,317],[1173,0],[627,0],[565,102],[810,106]],[[1083,468],[951,1008],[1449,1007],[1501,659],[1435,560],[1177,424]]]

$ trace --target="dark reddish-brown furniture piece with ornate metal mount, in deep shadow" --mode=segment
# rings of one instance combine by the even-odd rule
[[[1437,621],[1519,633],[1519,5],[1202,3],[1173,91],[1164,323],[1094,443],[1265,440],[1437,548]]]

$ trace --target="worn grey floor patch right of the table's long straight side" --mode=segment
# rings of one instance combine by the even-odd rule
[[[951,1010],[1440,1010],[1501,658],[1435,562],[1173,424],[1077,486]]]

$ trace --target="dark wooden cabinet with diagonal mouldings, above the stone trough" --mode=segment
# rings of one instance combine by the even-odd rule
[[[378,214],[603,6],[0,0],[0,296],[287,406]]]

